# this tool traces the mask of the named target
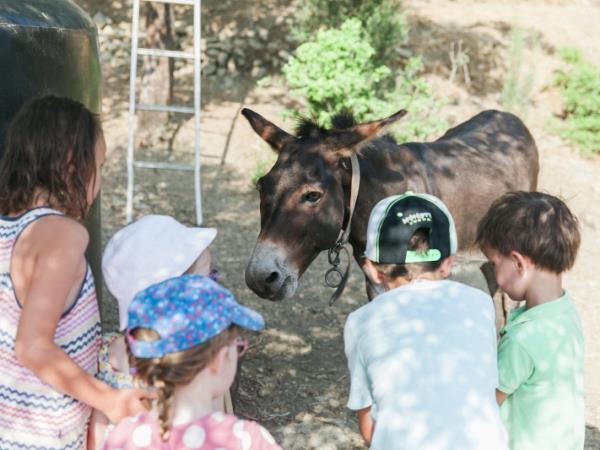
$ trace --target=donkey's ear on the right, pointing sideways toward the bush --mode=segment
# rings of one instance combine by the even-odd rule
[[[407,111],[401,109],[385,119],[359,123],[346,129],[331,130],[328,141],[334,151],[354,153],[360,150],[361,144],[366,143],[385,131],[385,129],[406,115]]]

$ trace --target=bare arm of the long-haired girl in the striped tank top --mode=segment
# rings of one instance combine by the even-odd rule
[[[37,236],[30,235],[31,241],[38,241],[30,242],[31,248],[38,251],[26,294],[20,299],[15,353],[21,364],[41,380],[117,422],[142,412],[140,398],[149,394],[141,389],[118,391],[96,380],[54,342],[69,293],[80,282],[82,265],[85,267],[88,235],[75,221],[52,219],[38,228]]]

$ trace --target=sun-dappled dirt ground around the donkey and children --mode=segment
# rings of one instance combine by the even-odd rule
[[[101,38],[128,46],[128,4],[80,1],[90,14],[101,10],[122,23],[121,33]],[[205,1],[214,16],[227,17],[234,9],[239,16],[249,2]],[[252,2],[252,14],[277,12],[289,2]],[[115,6],[115,4],[117,6]],[[227,4],[228,8],[224,5]],[[560,108],[557,93],[548,87],[559,67],[556,49],[576,46],[592,61],[600,60],[600,5],[590,1],[406,1],[411,42],[423,53],[428,78],[436,90],[449,98],[443,114],[451,124],[468,119],[487,108],[499,108],[503,65],[502,48],[511,27],[533,30],[541,45],[528,63],[535,67],[532,104],[525,122],[541,154],[540,189],[562,196],[579,216],[583,244],[575,268],[565,276],[583,321],[586,340],[586,449],[600,449],[600,278],[595,263],[600,258],[600,159],[582,159],[548,130],[547,119]],[[120,5],[120,7],[118,6]],[[262,9],[261,9],[262,8]],[[205,12],[206,12],[205,11]],[[286,9],[289,11],[289,8]],[[205,19],[206,20],[206,19]],[[225,19],[223,19],[225,20]],[[115,29],[117,27],[115,26]],[[450,83],[448,49],[462,39],[472,49],[469,69],[473,83],[466,87]],[[503,47],[504,46],[504,47]],[[103,65],[104,127],[109,146],[102,192],[104,242],[125,224],[127,148],[128,56],[115,57]],[[109,58],[110,59],[110,58]],[[244,283],[244,268],[259,230],[258,194],[250,179],[257,166],[271,161],[270,150],[239,115],[250,107],[288,129],[281,119],[284,107],[293,101],[280,87],[257,87],[239,78],[232,88],[222,80],[203,80],[202,194],[206,226],[219,230],[213,245],[214,259],[222,282],[238,299],[266,319],[267,329],[253,337],[241,370],[237,412],[265,425],[287,449],[364,448],[354,415],[346,408],[348,376],[343,353],[342,329],[346,316],[365,302],[362,275],[356,267],[344,296],[335,307],[327,300],[331,290],[323,285],[327,268],[322,255],[301,280],[293,299],[270,303],[256,297]],[[398,105],[401,107],[402,105]],[[182,124],[174,150],[154,151],[165,159],[190,160],[193,122]],[[221,164],[224,161],[224,164]],[[180,221],[194,221],[191,176],[156,171],[137,172],[136,216],[172,214]],[[115,326],[116,307],[104,295],[105,328]]]

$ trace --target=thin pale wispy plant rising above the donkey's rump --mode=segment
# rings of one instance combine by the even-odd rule
[[[522,116],[527,115],[527,109],[531,104],[535,66],[527,60],[527,53],[535,45],[537,42],[531,43],[524,30],[515,28],[511,32],[508,73],[502,89],[502,107],[506,111]]]

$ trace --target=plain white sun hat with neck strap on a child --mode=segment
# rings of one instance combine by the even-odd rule
[[[170,216],[148,215],[119,230],[102,255],[102,274],[119,303],[119,326],[127,308],[148,286],[182,275],[214,241],[215,228],[186,227]]]

